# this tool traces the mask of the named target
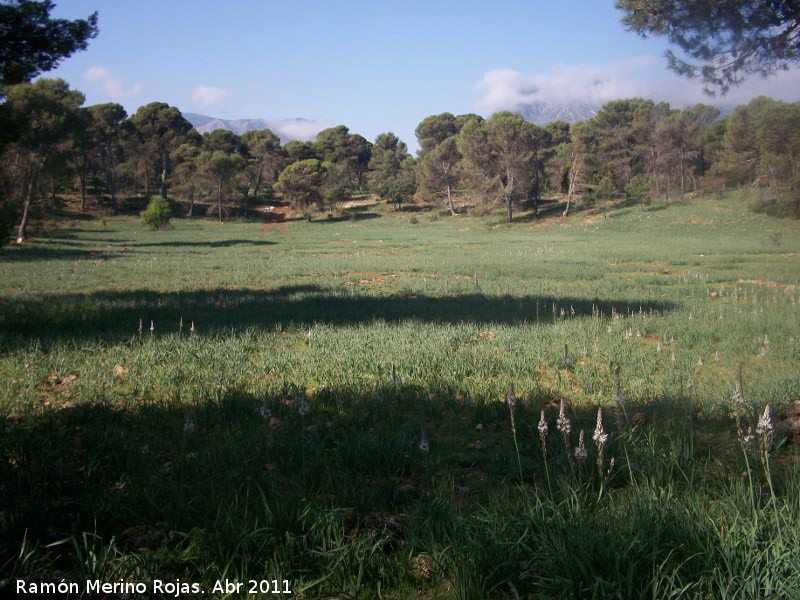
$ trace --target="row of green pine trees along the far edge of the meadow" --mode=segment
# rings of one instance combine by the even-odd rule
[[[200,135],[173,106],[153,102],[132,115],[115,103],[85,107],[59,79],[4,91],[0,184],[18,238],[31,211],[56,206],[63,192],[79,194],[81,210],[90,195],[112,210],[121,194],[169,195],[187,215],[204,201],[220,221],[274,192],[309,220],[315,206],[360,192],[398,208],[418,196],[454,215],[467,198],[487,210],[501,205],[508,222],[521,204],[538,212],[545,196],[563,199],[566,215],[578,198],[669,198],[723,184],[765,188],[774,202],[798,205],[800,104],[764,97],[724,118],[703,104],[614,100],[585,121],[545,127],[509,111],[442,113],[417,126],[413,157],[393,133],[370,142],[344,125],[283,145],[269,129]]]

